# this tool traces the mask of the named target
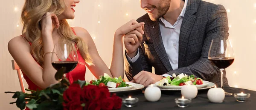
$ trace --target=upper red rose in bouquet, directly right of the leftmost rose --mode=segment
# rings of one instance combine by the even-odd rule
[[[99,87],[96,85],[87,85],[83,88],[84,102],[90,102],[92,100],[98,100],[100,97]]]

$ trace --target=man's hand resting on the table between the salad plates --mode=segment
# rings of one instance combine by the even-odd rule
[[[147,87],[148,85],[154,84],[155,82],[162,80],[163,78],[164,77],[161,75],[153,74],[148,71],[140,71],[140,73],[134,76],[132,82],[142,84]]]

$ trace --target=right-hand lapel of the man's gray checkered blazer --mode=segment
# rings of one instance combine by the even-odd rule
[[[183,22],[180,28],[180,39],[179,39],[179,65],[178,68],[183,67],[186,63],[186,48],[189,41],[189,35],[191,33],[192,27],[195,23],[197,12],[196,0],[188,0],[185,15],[183,17]]]

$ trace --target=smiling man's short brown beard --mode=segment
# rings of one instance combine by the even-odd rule
[[[157,11],[158,11],[157,16],[153,16],[152,14],[148,14],[149,18],[152,21],[156,21],[157,19],[159,19],[160,17],[165,15],[166,12],[170,8],[170,3],[171,3],[171,0],[162,0],[162,2],[158,4],[158,6],[155,6],[155,9],[157,9]]]

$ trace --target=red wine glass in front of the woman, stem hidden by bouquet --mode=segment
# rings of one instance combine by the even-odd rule
[[[72,44],[55,44],[52,51],[52,66],[57,71],[64,68],[63,77],[76,68],[78,56],[75,45]]]

